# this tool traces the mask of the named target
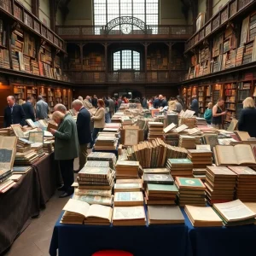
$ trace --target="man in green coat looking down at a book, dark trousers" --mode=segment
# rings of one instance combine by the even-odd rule
[[[52,118],[58,124],[58,130],[50,129],[55,137],[55,160],[59,161],[63,185],[58,188],[63,191],[60,198],[73,194],[73,160],[79,156],[79,137],[77,125],[67,108],[57,104]]]

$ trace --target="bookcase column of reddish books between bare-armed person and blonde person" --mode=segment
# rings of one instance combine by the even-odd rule
[[[224,102],[227,110],[225,121],[230,122],[236,117],[236,83],[224,84]]]

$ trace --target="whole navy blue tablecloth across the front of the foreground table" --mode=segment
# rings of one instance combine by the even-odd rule
[[[253,256],[256,225],[194,228],[184,225],[96,226],[55,224],[49,253],[91,256],[102,249],[122,249],[134,256]],[[62,213],[61,213],[62,216]]]

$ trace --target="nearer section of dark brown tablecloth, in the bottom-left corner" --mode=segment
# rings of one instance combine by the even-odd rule
[[[39,196],[38,174],[34,169],[0,195],[0,253],[13,243],[28,219],[39,214]]]

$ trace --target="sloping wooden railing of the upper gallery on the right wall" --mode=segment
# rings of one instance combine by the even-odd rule
[[[255,0],[230,0],[211,20],[208,20],[198,32],[195,32],[195,34],[189,38],[185,44],[185,52],[206,40],[213,32],[218,31],[222,26],[226,26],[237,15],[241,15],[241,12],[247,11],[247,9],[253,10],[252,7],[254,3],[256,3]]]

